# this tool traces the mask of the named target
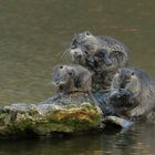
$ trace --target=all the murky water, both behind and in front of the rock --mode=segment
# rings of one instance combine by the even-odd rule
[[[54,93],[52,66],[65,63],[74,32],[90,30],[128,45],[131,64],[155,78],[155,1],[0,0],[0,103],[35,103]],[[66,141],[1,142],[0,155],[155,154],[155,126]]]

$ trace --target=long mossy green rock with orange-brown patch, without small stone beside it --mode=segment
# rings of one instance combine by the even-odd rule
[[[62,97],[61,100],[63,100]],[[0,137],[35,136],[54,133],[79,133],[96,130],[102,123],[102,112],[90,102],[71,102],[70,99],[40,104],[18,103],[1,107]],[[64,104],[65,102],[65,104]],[[70,104],[66,104],[70,103]]]

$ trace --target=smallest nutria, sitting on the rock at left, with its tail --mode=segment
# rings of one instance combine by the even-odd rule
[[[60,93],[83,91],[90,95],[94,104],[97,102],[92,94],[92,73],[81,65],[55,65],[53,68],[53,83]]]

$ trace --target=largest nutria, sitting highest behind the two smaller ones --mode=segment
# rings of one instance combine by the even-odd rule
[[[121,41],[87,31],[73,38],[69,53],[74,63],[95,72],[93,79],[101,89],[107,89],[117,69],[128,62],[128,49]]]

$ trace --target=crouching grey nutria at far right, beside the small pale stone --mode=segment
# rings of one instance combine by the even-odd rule
[[[111,90],[110,103],[118,115],[145,117],[155,106],[155,82],[140,69],[121,69]]]

